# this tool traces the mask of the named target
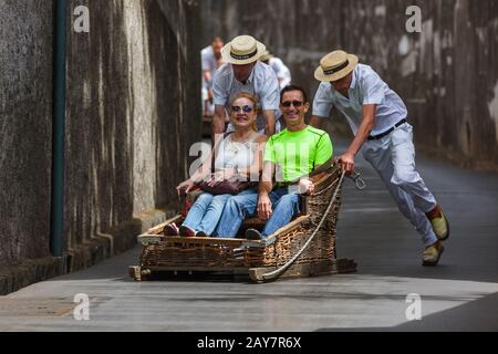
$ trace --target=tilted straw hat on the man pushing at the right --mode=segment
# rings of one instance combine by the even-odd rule
[[[344,51],[335,51],[326,54],[320,61],[320,66],[314,72],[318,81],[338,81],[351,73],[357,65],[357,56]]]

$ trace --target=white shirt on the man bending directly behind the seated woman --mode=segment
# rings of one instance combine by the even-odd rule
[[[279,108],[279,81],[273,70],[261,62],[256,63],[246,84],[242,84],[235,77],[231,64],[224,64],[216,71],[212,80],[215,105],[225,106],[229,111],[231,98],[239,92],[249,92],[258,96],[259,104],[263,111],[277,111]],[[264,117],[259,115],[258,131],[264,128]]]

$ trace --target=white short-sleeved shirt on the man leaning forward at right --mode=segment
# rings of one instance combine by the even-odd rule
[[[331,83],[322,82],[314,96],[313,115],[329,117],[335,106],[347,118],[354,135],[363,119],[363,105],[377,105],[371,135],[388,131],[407,116],[402,98],[369,65],[357,64],[354,69],[349,96],[344,97]]]

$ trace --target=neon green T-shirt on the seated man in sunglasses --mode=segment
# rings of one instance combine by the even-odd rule
[[[264,162],[277,166],[277,183],[290,183],[309,175],[333,155],[328,133],[312,126],[300,132],[288,129],[269,138]]]

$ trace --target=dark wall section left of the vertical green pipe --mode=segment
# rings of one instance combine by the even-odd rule
[[[0,266],[49,254],[52,13],[0,1]]]

